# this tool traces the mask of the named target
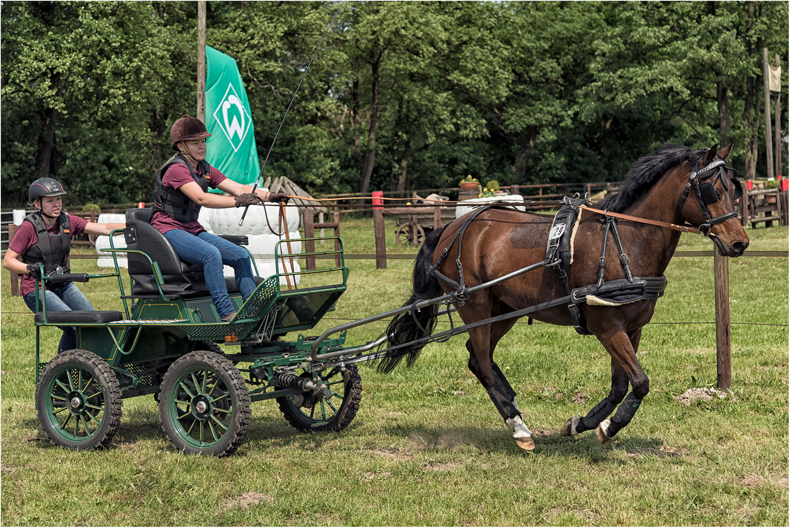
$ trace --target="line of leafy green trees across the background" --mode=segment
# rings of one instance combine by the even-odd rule
[[[339,6],[207,2],[261,161]],[[73,203],[150,201],[171,124],[195,115],[196,2],[0,10],[2,206],[42,175]],[[732,141],[735,168],[765,175],[763,47],[786,101],[787,2],[346,2],[264,177],[315,194],[616,181],[668,141]]]

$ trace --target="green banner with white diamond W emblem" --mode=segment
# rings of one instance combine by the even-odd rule
[[[212,134],[206,160],[233,181],[251,185],[261,167],[239,67],[235,58],[210,46],[205,62],[205,126]]]

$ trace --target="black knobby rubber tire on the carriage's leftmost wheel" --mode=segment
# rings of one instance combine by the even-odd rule
[[[92,398],[88,398],[88,402],[92,403],[92,405],[101,405],[102,403],[104,405],[99,427],[90,436],[85,436],[84,440],[74,439],[70,433],[66,432],[61,427],[58,417],[52,411],[54,406],[47,405],[47,394],[50,393],[50,386],[54,386],[55,379],[61,378],[66,369],[70,367],[82,368],[96,379],[99,385],[96,388],[100,388],[100,392],[96,393],[96,396],[92,394]],[[68,383],[69,379],[61,379],[61,383],[64,382]],[[80,389],[82,388],[80,387]],[[96,398],[100,398],[100,400]],[[44,437],[49,439],[51,443],[69,449],[92,451],[110,443],[112,437],[115,436],[115,432],[118,431],[122,414],[121,385],[107,361],[88,350],[66,350],[66,352],[55,356],[41,371],[39,383],[36,383],[36,411],[39,415]],[[81,416],[85,417],[87,412],[87,410],[83,411]],[[86,422],[92,424],[90,420],[86,420]],[[66,434],[71,436],[71,438],[64,436]],[[79,429],[77,429],[77,434],[79,434]]]

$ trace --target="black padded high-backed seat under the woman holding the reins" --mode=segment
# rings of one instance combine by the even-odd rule
[[[166,296],[187,296],[196,293],[205,293],[209,289],[205,285],[203,266],[183,262],[175,253],[170,241],[149,224],[151,208],[127,209],[126,229],[123,236],[126,247],[132,250],[143,251],[152,261],[159,262],[160,271],[164,278],[162,292]],[[248,239],[243,235],[220,235],[222,238],[239,245],[246,245]],[[156,288],[156,278],[151,270],[148,259],[138,253],[127,255],[129,274],[134,279],[132,295],[159,295]],[[255,277],[259,283],[260,277]],[[263,279],[260,279],[262,281]],[[238,292],[239,288],[234,279],[225,281],[228,292]]]

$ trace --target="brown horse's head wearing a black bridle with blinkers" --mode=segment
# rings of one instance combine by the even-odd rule
[[[718,152],[717,147],[706,149],[697,164],[689,167],[681,212],[687,222],[699,226],[702,236],[713,239],[720,255],[739,257],[749,246],[749,236],[735,212],[743,187],[737,177],[727,174],[734,169],[724,164],[732,143]]]

